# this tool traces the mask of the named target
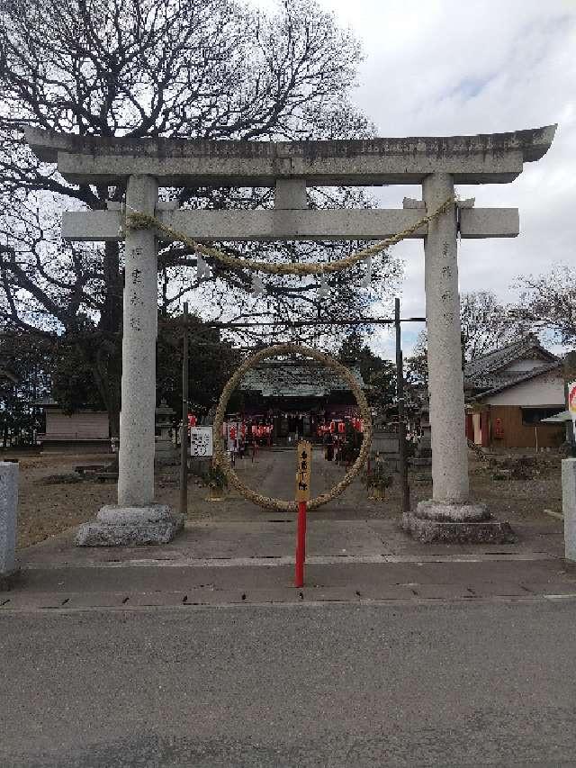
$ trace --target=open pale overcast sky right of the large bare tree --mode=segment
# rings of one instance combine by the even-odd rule
[[[268,0],[254,0],[269,7]],[[552,149],[508,185],[461,186],[476,205],[518,207],[517,239],[464,240],[461,292],[503,302],[518,275],[576,262],[576,0],[319,0],[365,53],[352,94],[380,136],[449,136],[558,123]],[[401,207],[419,187],[383,188]],[[402,314],[424,314],[420,240],[401,243]],[[374,308],[377,311],[377,308]],[[404,326],[407,329],[407,326]],[[417,335],[404,333],[407,346]],[[392,351],[386,333],[374,348]]]

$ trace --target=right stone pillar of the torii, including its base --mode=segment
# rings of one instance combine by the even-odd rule
[[[428,211],[433,211],[454,195],[454,178],[430,174],[422,192]],[[468,500],[456,238],[454,204],[430,221],[424,239],[432,499],[420,501],[416,512],[405,513],[402,522],[425,540],[503,541],[509,538],[508,526],[491,520],[486,504]]]

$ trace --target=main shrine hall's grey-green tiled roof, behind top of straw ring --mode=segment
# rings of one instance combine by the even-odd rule
[[[357,366],[349,366],[356,381],[365,387]],[[239,384],[243,392],[263,397],[326,397],[333,392],[350,392],[347,382],[315,361],[272,361],[247,371]]]

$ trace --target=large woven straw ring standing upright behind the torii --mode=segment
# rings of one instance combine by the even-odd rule
[[[299,344],[276,344],[274,347],[267,347],[266,349],[259,350],[256,354],[247,359],[239,366],[231,376],[228,383],[222,390],[220,395],[220,402],[216,410],[216,416],[214,417],[214,463],[220,465],[222,472],[226,475],[228,482],[236,488],[236,490],[249,501],[254,501],[260,507],[264,507],[266,510],[276,510],[280,512],[295,512],[298,508],[296,501],[283,501],[282,499],[271,499],[268,496],[263,496],[261,493],[254,491],[252,488],[248,488],[247,485],[242,483],[238,474],[234,472],[229,462],[228,454],[224,447],[224,438],[222,435],[224,417],[226,414],[226,408],[228,406],[230,395],[234,392],[238,384],[241,382],[247,371],[254,366],[257,366],[262,360],[268,357],[276,357],[277,355],[302,355],[303,357],[311,357],[314,360],[322,363],[322,365],[331,368],[338,375],[340,375],[347,384],[350,385],[350,389],[356,398],[358,408],[360,409],[360,415],[364,420],[364,439],[362,441],[362,447],[360,448],[360,454],[355,463],[350,467],[347,474],[342,480],[337,483],[330,491],[321,493],[320,496],[316,496],[311,499],[308,504],[308,508],[311,510],[320,507],[322,504],[327,504],[329,501],[336,499],[336,497],[343,492],[347,486],[352,483],[356,475],[362,469],[365,460],[370,451],[370,444],[372,442],[372,414],[368,406],[368,402],[365,398],[365,393],[362,391],[362,387],[356,381],[352,371],[346,366],[343,366],[334,357],[324,355],[322,352],[318,352],[316,349],[310,347],[302,347]],[[295,463],[294,463],[294,483],[295,483]]]

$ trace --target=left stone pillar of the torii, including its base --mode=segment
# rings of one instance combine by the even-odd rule
[[[126,207],[154,215],[154,176],[128,178]],[[157,339],[157,237],[154,230],[126,231],[122,330],[122,383],[118,505],[104,506],[80,526],[76,545],[118,547],[161,544],[184,526],[164,504],[154,503]]]

